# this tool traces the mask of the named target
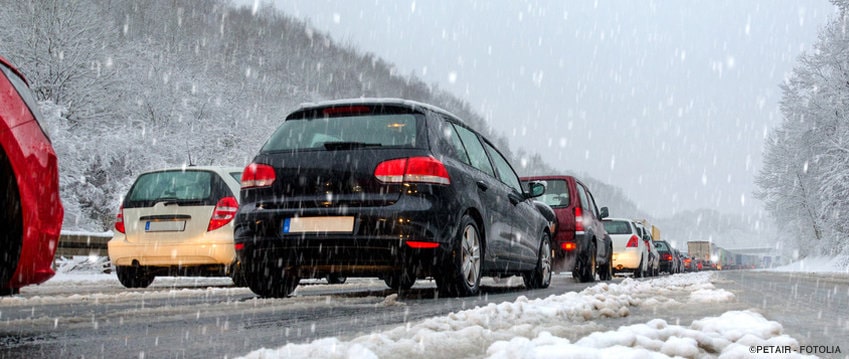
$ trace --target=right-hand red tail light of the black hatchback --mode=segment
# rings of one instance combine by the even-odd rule
[[[433,157],[397,158],[384,161],[374,169],[374,176],[383,183],[451,184],[445,165]]]

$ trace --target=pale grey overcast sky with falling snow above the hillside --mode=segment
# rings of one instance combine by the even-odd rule
[[[513,150],[660,217],[761,210],[753,180],[779,84],[834,14],[827,0],[275,5],[468,101]]]

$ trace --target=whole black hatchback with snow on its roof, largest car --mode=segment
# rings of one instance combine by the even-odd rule
[[[300,278],[378,277],[441,296],[482,276],[551,281],[549,222],[508,160],[434,106],[401,99],[304,105],[242,175],[235,246],[251,290],[292,294]]]

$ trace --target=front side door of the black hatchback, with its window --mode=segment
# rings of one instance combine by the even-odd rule
[[[522,183],[516,171],[495,147],[486,142],[485,147],[492,163],[495,164],[499,181],[506,186],[504,191],[509,203],[504,211],[510,219],[511,247],[514,259],[522,263],[536,263],[540,238],[539,211],[522,189]]]

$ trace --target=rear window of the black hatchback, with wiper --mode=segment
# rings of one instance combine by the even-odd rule
[[[377,147],[415,148],[417,114],[369,114],[320,118],[290,118],[263,146],[263,152],[347,150]]]

